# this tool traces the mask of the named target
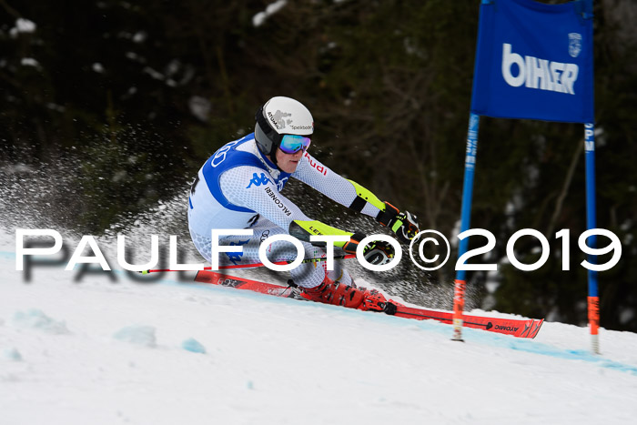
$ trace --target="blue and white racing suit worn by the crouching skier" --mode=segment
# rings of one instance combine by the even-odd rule
[[[340,177],[307,152],[294,173],[285,173],[258,150],[254,134],[250,134],[227,143],[209,157],[199,169],[191,188],[188,198],[188,228],[201,255],[210,261],[210,232],[214,228],[251,228],[254,231],[252,237],[229,236],[219,240],[220,245],[243,247],[243,253],[219,254],[219,264],[239,265],[260,263],[258,248],[268,237],[289,234],[290,228],[301,229],[298,223],[304,228],[308,228],[308,223],[322,225],[308,218],[293,202],[281,195],[280,191],[290,177],[314,187],[345,207],[353,207],[374,218],[379,215],[378,199],[374,197],[375,206],[365,200],[369,197],[359,196],[361,190],[365,190],[364,187]],[[328,228],[322,234],[330,234],[330,227],[322,226],[314,228]],[[336,234],[351,235],[336,228],[331,229]],[[298,231],[294,236],[298,237]],[[301,241],[305,258],[324,258],[324,250],[307,240],[309,238]],[[267,255],[272,262],[292,261],[297,258],[297,249],[289,242],[276,241],[268,247]],[[295,283],[304,288],[318,286],[326,273],[332,280],[339,280],[346,285],[351,283],[347,271],[339,269],[337,265],[335,270],[328,272],[324,261],[304,263],[291,271]]]

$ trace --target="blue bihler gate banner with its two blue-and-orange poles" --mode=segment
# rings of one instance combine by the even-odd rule
[[[596,227],[592,55],[592,0],[481,0],[460,232],[470,229],[480,116],[584,124],[587,228]],[[468,244],[460,240],[459,258]],[[592,349],[599,352],[597,272],[588,278]],[[453,339],[462,338],[465,286],[465,271],[458,270]]]

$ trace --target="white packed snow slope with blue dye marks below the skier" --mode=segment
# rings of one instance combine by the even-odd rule
[[[122,272],[15,270],[0,232],[0,423],[621,424],[637,335],[514,339]],[[115,280],[114,280],[115,279]],[[496,314],[496,313],[493,313]]]

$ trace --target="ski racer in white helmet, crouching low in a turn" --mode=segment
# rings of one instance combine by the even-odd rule
[[[314,119],[297,100],[272,97],[256,115],[255,132],[227,143],[204,164],[188,198],[188,228],[201,255],[211,259],[213,228],[251,228],[252,237],[227,236],[219,245],[242,246],[242,253],[224,253],[222,263],[260,262],[258,248],[268,237],[288,234],[298,238],[305,258],[325,258],[324,249],[310,235],[345,235],[347,242],[334,245],[355,253],[365,235],[333,228],[308,218],[281,190],[289,177],[297,178],[339,204],[376,218],[389,226],[401,242],[419,232],[415,216],[382,202],[365,187],[339,176],[308,154]],[[322,247],[325,247],[323,243]],[[365,258],[385,264],[394,249],[384,241],[368,244]],[[286,241],[276,241],[267,249],[272,262],[292,261],[297,249]],[[359,288],[345,269],[328,271],[325,261],[308,262],[291,270],[292,278],[308,298],[353,309],[383,310],[386,299],[376,290]]]

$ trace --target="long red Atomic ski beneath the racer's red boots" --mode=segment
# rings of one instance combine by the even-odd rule
[[[285,297],[291,299],[308,300],[296,288],[290,285],[283,287],[273,283],[261,282],[248,278],[237,278],[215,271],[201,270],[197,272],[195,281],[209,283],[223,287],[246,289],[261,294],[275,297]],[[385,313],[404,319],[426,320],[434,319],[442,323],[453,323],[453,312],[438,309],[421,309],[407,307],[389,299]],[[508,319],[492,318],[488,316],[475,316],[465,314],[462,316],[463,326],[467,328],[483,329],[490,332],[497,332],[505,335],[512,335],[518,338],[535,338],[540,331],[544,319]]]

